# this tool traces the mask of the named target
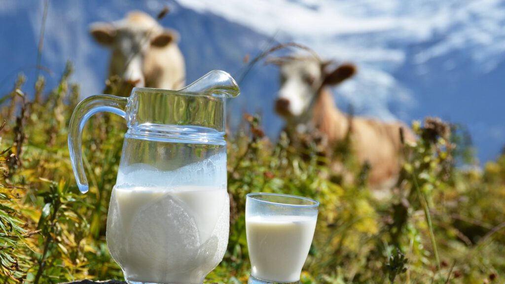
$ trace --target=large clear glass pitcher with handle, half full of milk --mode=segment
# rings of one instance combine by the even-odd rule
[[[88,191],[82,129],[97,112],[126,119],[107,219],[109,251],[129,283],[194,283],[228,244],[226,98],[239,88],[212,71],[178,90],[133,88],[129,98],[91,96],[74,110],[68,144],[81,192]]]

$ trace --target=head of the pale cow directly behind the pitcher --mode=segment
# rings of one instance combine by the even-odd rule
[[[96,42],[112,50],[109,75],[118,75],[140,87],[145,86],[144,64],[150,51],[178,40],[177,32],[163,28],[154,18],[138,11],[113,23],[94,23],[90,33]]]

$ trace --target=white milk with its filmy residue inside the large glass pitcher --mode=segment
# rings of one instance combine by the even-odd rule
[[[174,171],[136,164],[118,173],[107,244],[129,282],[200,284],[223,259],[229,214],[225,159]]]

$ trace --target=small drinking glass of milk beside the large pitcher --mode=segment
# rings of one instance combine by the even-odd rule
[[[316,228],[319,202],[305,197],[251,193],[245,230],[249,284],[299,283]]]

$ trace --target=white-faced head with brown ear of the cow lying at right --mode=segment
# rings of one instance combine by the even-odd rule
[[[306,120],[323,87],[337,85],[356,73],[356,67],[351,64],[328,70],[330,62],[316,57],[288,57],[271,62],[280,67],[275,110],[287,120]]]

